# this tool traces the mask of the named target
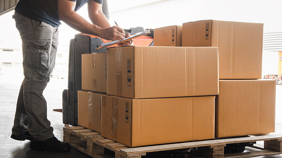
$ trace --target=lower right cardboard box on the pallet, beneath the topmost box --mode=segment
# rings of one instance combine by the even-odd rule
[[[275,80],[219,80],[216,137],[275,130]]]

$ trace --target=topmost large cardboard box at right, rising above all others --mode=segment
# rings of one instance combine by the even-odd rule
[[[263,24],[203,20],[182,25],[183,47],[219,47],[220,79],[259,79]]]

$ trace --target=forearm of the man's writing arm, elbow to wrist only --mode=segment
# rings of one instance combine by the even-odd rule
[[[87,20],[85,20],[83,17],[81,17],[79,14],[77,14],[75,11],[70,11],[68,14],[61,14],[60,20],[68,24],[70,27],[76,29],[77,31],[100,36],[101,34],[101,27],[98,27],[97,25],[89,23]]]

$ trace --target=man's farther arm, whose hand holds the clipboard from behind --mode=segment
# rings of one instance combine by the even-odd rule
[[[102,28],[108,28],[111,27],[110,23],[108,22],[106,16],[104,15],[104,13],[102,12],[102,4],[99,4],[95,1],[90,0],[88,2],[88,16],[91,20],[91,22],[99,27]],[[124,31],[123,31],[124,33]],[[129,37],[130,34],[126,33],[125,37]],[[101,36],[99,36],[101,37]],[[118,45],[131,45],[131,43],[133,42],[133,40],[129,40],[126,42],[123,42],[121,44]]]

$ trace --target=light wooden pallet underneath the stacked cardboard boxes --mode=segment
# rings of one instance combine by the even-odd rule
[[[224,154],[224,146],[232,143],[264,141],[264,146],[254,145],[257,151]],[[261,135],[240,138],[213,139],[144,147],[129,147],[102,137],[100,133],[81,126],[64,127],[64,142],[94,158],[112,158],[104,154],[104,148],[115,152],[115,158],[141,158],[149,152],[175,151],[197,147],[196,154],[206,158],[244,158],[282,154],[282,135]]]

